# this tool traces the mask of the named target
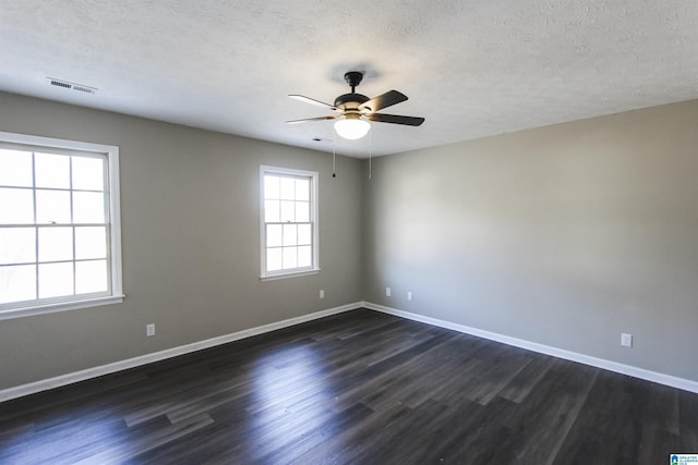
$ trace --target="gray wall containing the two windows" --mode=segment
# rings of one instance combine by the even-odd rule
[[[1,320],[0,389],[362,299],[359,160],[333,180],[327,154],[1,93],[0,109],[0,131],[120,147],[127,294]],[[260,164],[320,172],[320,274],[260,282]]]

